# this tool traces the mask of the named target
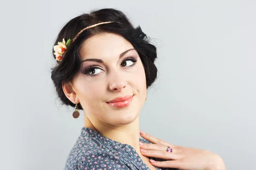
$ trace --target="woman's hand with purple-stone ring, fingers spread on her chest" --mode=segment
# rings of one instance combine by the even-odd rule
[[[176,146],[157,139],[142,130],[140,135],[151,142],[151,144],[140,142],[140,152],[144,156],[166,160],[150,160],[151,164],[156,167],[178,168],[181,170],[226,170],[223,160],[215,153],[191,147]],[[172,148],[172,152],[167,152],[168,147]]]

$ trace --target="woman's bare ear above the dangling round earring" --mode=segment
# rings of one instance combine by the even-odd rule
[[[80,102],[71,82],[62,83],[62,89],[63,89],[65,96],[71,102],[73,102],[74,104],[78,104]]]

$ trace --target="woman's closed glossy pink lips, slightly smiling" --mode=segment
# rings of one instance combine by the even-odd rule
[[[115,108],[125,108],[129,106],[132,102],[133,95],[116,97],[115,99],[106,102],[108,105]]]

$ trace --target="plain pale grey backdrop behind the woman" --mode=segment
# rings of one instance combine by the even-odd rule
[[[51,52],[68,20],[95,8],[125,12],[158,48],[141,129],[255,170],[255,0],[2,2],[0,169],[63,169],[84,122],[55,95]]]

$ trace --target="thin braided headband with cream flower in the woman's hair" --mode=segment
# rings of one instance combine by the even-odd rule
[[[55,51],[54,55],[56,56],[55,57],[55,60],[56,61],[62,61],[62,55],[64,53],[64,51],[67,49],[67,46],[70,44],[70,42],[73,42],[76,40],[76,38],[86,29],[88,28],[93,28],[95,26],[98,26],[98,25],[101,25],[101,24],[107,24],[107,23],[113,23],[112,21],[111,22],[104,22],[104,23],[97,23],[97,24],[94,24],[92,26],[87,26],[86,28],[82,29],[81,31],[79,31],[79,33],[76,34],[76,36],[73,38],[73,40],[71,39],[68,39],[67,42],[65,42],[64,38],[62,40],[62,42],[58,42],[58,45],[54,45],[53,46],[53,50]]]

